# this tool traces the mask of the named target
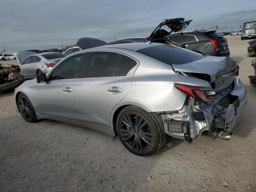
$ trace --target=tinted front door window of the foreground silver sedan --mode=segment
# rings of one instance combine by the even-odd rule
[[[83,54],[77,54],[71,56],[64,61],[62,61],[54,70],[52,71],[51,79],[76,79],[78,78],[82,62],[84,58]]]

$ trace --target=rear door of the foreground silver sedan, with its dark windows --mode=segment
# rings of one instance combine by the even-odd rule
[[[89,52],[84,72],[75,83],[79,120],[110,128],[112,109],[129,92],[138,61],[116,52]]]

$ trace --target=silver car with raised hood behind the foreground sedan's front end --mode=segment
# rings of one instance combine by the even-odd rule
[[[22,59],[26,57],[25,59]],[[66,55],[58,52],[45,52],[34,54],[31,51],[22,51],[17,54],[17,60],[20,62],[21,74],[26,78],[36,78],[36,76],[48,73],[52,67],[57,64]]]

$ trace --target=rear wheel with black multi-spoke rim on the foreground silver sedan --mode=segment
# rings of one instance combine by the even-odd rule
[[[122,144],[136,155],[151,155],[163,146],[163,133],[156,118],[140,107],[124,108],[118,114],[116,128]]]

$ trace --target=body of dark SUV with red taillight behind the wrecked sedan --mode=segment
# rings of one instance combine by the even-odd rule
[[[212,56],[230,56],[226,38],[216,31],[190,31],[166,36],[186,49]]]

